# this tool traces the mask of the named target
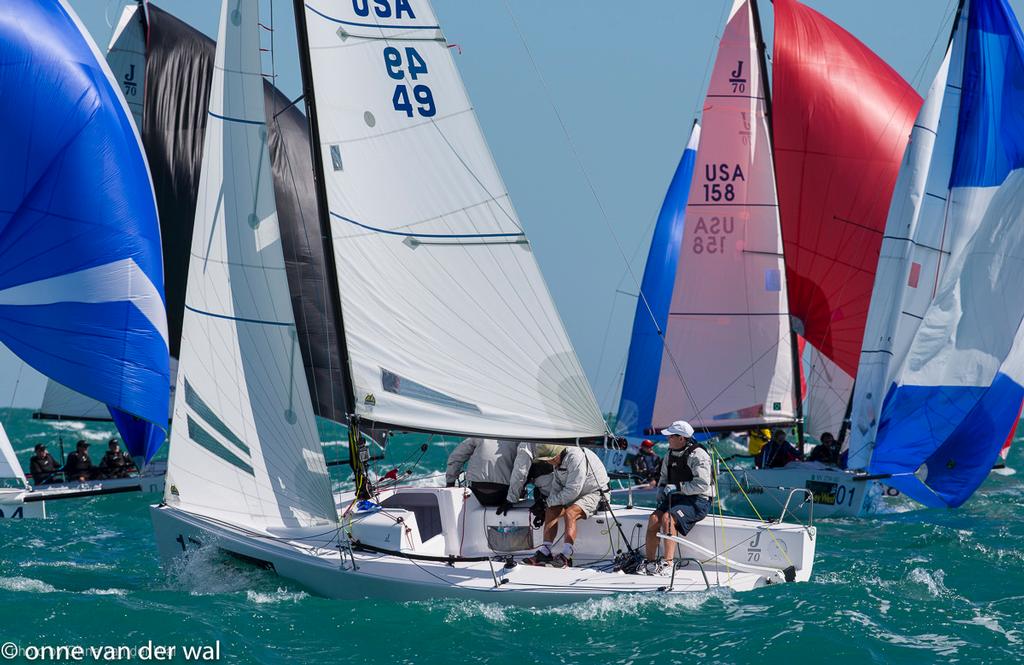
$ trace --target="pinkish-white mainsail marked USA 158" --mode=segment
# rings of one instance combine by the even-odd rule
[[[785,271],[753,16],[736,0],[705,101],[652,424],[796,419]],[[685,382],[685,383],[684,383]]]

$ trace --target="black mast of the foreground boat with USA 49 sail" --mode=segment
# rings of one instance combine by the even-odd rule
[[[328,297],[332,299],[335,313],[335,331],[338,340],[338,350],[341,358],[342,390],[345,399],[345,411],[348,421],[348,456],[355,481],[355,488],[360,497],[368,494],[367,468],[369,451],[366,440],[359,435],[358,418],[355,413],[355,393],[352,389],[349,374],[348,345],[345,340],[345,324],[341,311],[341,291],[338,282],[338,266],[334,256],[334,242],[331,233],[331,213],[327,198],[326,179],[324,174],[324,155],[321,151],[319,122],[316,117],[316,95],[313,92],[312,64],[309,60],[309,34],[306,30],[306,14],[304,0],[294,0],[295,35],[298,40],[299,70],[302,72],[302,94],[306,101],[306,117],[309,120],[309,153],[313,160],[313,186],[316,191],[316,216],[321,224],[321,240],[324,244],[324,266],[327,271]]]

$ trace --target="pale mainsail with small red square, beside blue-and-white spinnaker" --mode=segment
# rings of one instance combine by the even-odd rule
[[[886,390],[949,264],[949,248],[976,225],[947,203],[966,28],[965,10],[918,115],[893,193],[844,442],[850,468],[867,467]]]

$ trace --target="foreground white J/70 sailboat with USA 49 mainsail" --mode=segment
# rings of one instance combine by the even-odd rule
[[[566,444],[607,431],[430,4],[307,0],[295,15],[355,490],[332,493],[295,362],[258,2],[225,1],[183,399],[152,508],[162,557],[217,547],[332,597],[531,605],[808,579],[813,527],[709,517],[657,579],[613,571],[650,510],[587,521],[577,567],[552,569],[514,562],[538,543],[525,504],[500,516],[462,488],[371,487],[372,428]]]

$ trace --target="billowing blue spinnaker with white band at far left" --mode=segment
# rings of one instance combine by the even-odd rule
[[[2,12],[0,341],[109,405],[129,449],[150,455],[167,425],[168,333],[138,135],[63,2]]]

